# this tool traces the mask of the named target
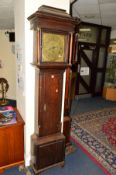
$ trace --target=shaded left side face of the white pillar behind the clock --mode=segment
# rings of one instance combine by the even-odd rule
[[[25,10],[24,0],[15,0],[15,59],[17,108],[25,120]],[[20,79],[22,78],[22,81]],[[20,80],[20,81],[19,81]]]

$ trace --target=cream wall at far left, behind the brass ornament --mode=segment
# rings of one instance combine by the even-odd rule
[[[9,30],[8,30],[9,31]],[[11,30],[13,31],[13,30]],[[6,30],[0,30],[0,77],[6,78],[9,84],[6,98],[16,99],[16,59],[12,52],[14,42],[9,42],[9,37],[5,35]],[[10,31],[9,31],[10,32]],[[1,94],[0,94],[1,97]]]

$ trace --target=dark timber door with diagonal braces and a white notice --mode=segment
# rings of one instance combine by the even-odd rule
[[[91,94],[94,77],[95,46],[79,44],[76,94]]]

